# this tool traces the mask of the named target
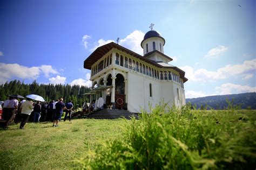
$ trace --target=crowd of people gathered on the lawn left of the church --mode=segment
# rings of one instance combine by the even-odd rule
[[[86,104],[87,105],[87,104]],[[53,127],[59,126],[58,123],[65,110],[64,122],[69,115],[69,121],[71,121],[73,104],[70,100],[68,103],[64,103],[63,98],[48,102],[37,101],[33,103],[30,98],[18,102],[17,97],[9,97],[8,100],[2,104],[3,114],[2,119],[5,120],[3,124],[4,129],[8,129],[8,126],[12,121],[15,123],[21,123],[19,129],[24,129],[27,122],[53,122]]]

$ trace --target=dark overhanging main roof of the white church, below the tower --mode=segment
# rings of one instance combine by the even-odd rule
[[[132,56],[134,56],[135,58],[139,59],[139,60],[142,60],[142,61],[145,61],[147,63],[150,63],[151,65],[153,66],[156,66],[158,68],[171,68],[171,69],[174,69],[174,70],[177,70],[177,72],[179,72],[180,76],[181,76],[181,79],[184,80],[184,82],[187,81],[187,78],[185,77],[185,72],[181,69],[179,69],[178,67],[175,67],[175,66],[162,66],[160,65],[158,62],[156,61],[153,61],[153,60],[150,60],[150,59],[147,59],[145,58],[144,56],[142,55],[139,55],[133,51],[131,51],[130,49],[127,49],[123,46],[120,46],[118,44],[116,44],[115,42],[110,42],[109,44],[105,44],[103,46],[100,46],[98,47],[97,49],[95,49],[94,52],[91,53],[91,55],[89,55],[87,57],[87,59],[84,60],[84,68],[86,69],[91,69],[91,66],[93,65],[93,63],[97,62],[99,59],[101,59],[107,52],[109,52],[112,48],[117,48],[119,49],[120,51],[123,51],[127,54],[130,54]],[[160,53],[160,52],[159,52]],[[162,53],[163,54],[163,53]],[[164,54],[165,55],[165,54]],[[167,56],[167,55],[166,55]],[[168,56],[167,56],[168,57]],[[170,58],[171,59],[171,58]],[[172,59],[171,59],[172,60]]]

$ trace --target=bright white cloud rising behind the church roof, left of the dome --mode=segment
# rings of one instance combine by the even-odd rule
[[[142,31],[135,30],[124,39],[119,40],[119,44],[124,46],[125,48],[130,49],[133,52],[138,54],[143,54],[143,49],[140,46],[140,42],[142,42],[144,38],[144,33]],[[95,51],[96,48],[108,44],[110,42],[115,42],[114,40],[104,40],[99,39],[97,45],[91,49],[91,51]]]

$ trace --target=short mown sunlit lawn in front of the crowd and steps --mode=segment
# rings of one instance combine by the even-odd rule
[[[91,150],[102,140],[120,134],[122,119],[107,121],[73,119],[52,123],[27,123],[24,130],[19,124],[0,130],[0,169],[70,169],[72,160],[83,156],[86,144]]]

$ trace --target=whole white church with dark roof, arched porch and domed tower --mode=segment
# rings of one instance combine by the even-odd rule
[[[85,61],[91,70],[91,100],[102,96],[105,108],[150,111],[150,105],[185,105],[185,72],[168,62],[165,39],[157,31],[147,32],[141,43],[144,55],[114,42],[98,47]]]

